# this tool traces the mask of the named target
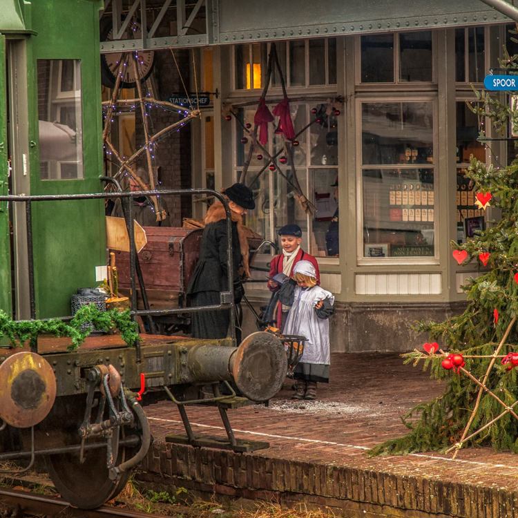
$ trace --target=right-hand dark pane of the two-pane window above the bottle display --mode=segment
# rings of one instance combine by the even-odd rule
[[[432,81],[432,32],[399,35],[400,81]]]

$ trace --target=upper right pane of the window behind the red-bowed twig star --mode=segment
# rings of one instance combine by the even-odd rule
[[[338,125],[327,104],[318,104],[314,117],[321,122],[311,124],[311,165],[336,166],[338,164]],[[327,114],[327,111],[330,113]]]

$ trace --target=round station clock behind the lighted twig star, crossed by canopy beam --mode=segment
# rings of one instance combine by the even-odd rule
[[[131,39],[138,39],[141,35],[140,25],[133,24],[131,28]],[[112,30],[106,34],[106,41],[111,41]],[[127,64],[122,70],[122,88],[133,88],[137,78],[147,79],[151,74],[153,68],[153,59],[155,52],[153,50],[135,50],[131,52],[133,55],[128,55],[129,52],[111,52],[110,54],[102,55],[101,64],[103,67],[103,82],[106,86],[113,88],[115,79],[117,77],[117,69],[119,62],[126,60]],[[137,75],[135,75],[135,68],[133,67],[133,56],[137,57]],[[107,79],[107,81],[105,80]]]

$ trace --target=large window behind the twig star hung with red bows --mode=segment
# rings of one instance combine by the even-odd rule
[[[296,133],[307,126],[316,115],[320,124],[312,124],[298,135],[299,145],[294,148],[294,163],[298,182],[316,213],[308,214],[297,200],[294,179],[291,177],[290,157],[285,156],[282,136],[269,132],[269,153],[286,158],[278,161],[282,175],[268,169],[265,153],[256,151],[250,158],[247,184],[256,195],[256,209],[249,211],[247,224],[261,236],[277,240],[276,231],[287,223],[296,223],[303,229],[303,247],[314,256],[338,256],[338,126],[336,116],[327,104],[291,103],[291,119]],[[273,108],[273,106],[270,106]],[[327,113],[329,111],[329,114]],[[242,108],[241,122],[253,122],[255,108]],[[271,128],[273,130],[273,128]],[[244,144],[240,124],[236,124],[236,177],[249,157],[249,139]]]

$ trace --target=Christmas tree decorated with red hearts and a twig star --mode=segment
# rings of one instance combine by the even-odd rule
[[[501,66],[518,73],[517,61],[518,55],[505,55]],[[517,126],[516,106],[486,91],[476,95],[478,103],[470,107],[481,119],[489,117],[500,133]],[[463,314],[416,325],[437,343],[404,355],[406,363],[423,363],[432,377],[444,380],[445,391],[407,412],[402,419],[410,432],[372,454],[442,450],[455,456],[469,445],[518,452],[518,160],[497,167],[472,157],[466,175],[478,206],[499,208],[501,218],[466,243],[452,242],[453,256],[459,264],[475,260],[486,269],[463,286]]]

